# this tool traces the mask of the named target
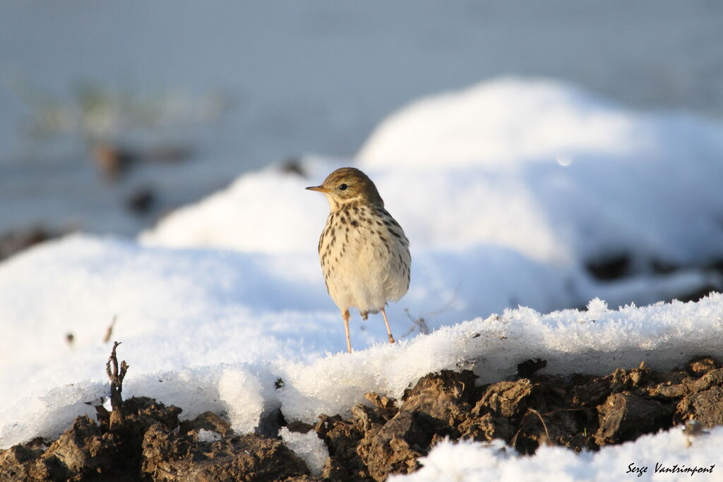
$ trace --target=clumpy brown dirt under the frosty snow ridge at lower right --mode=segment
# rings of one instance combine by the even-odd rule
[[[710,357],[686,370],[655,372],[641,363],[602,377],[529,374],[543,361],[521,363],[527,376],[474,386],[471,371],[429,374],[400,400],[368,394],[372,407],[356,405],[351,417],[322,415],[313,429],[329,448],[323,476],[330,480],[382,481],[419,467],[440,439],[503,439],[523,454],[540,444],[579,452],[634,440],[685,421],[723,425],[723,369]]]

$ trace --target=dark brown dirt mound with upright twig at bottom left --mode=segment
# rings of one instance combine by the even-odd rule
[[[180,408],[145,397],[126,400],[124,410],[120,423],[100,410],[98,423],[78,417],[47,448],[35,440],[2,452],[0,480],[283,481],[309,474],[280,440],[235,436],[213,413],[179,423]]]

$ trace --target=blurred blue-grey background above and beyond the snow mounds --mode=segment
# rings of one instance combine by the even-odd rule
[[[352,157],[406,103],[500,75],[720,119],[722,25],[714,0],[4,1],[0,259]]]

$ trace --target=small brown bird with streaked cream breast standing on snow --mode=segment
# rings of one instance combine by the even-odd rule
[[[346,349],[351,353],[349,309],[362,319],[382,312],[389,343],[394,337],[385,306],[409,289],[409,240],[384,207],[374,182],[356,168],[338,168],[319,186],[329,216],[319,238],[319,259],[329,296],[341,311]]]

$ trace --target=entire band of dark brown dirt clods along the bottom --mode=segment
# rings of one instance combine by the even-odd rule
[[[542,366],[521,363],[523,377],[480,387],[471,371],[429,374],[398,403],[369,393],[348,418],[321,415],[313,426],[287,427],[313,430],[325,442],[322,479],[382,481],[419,468],[419,457],[445,437],[504,439],[531,454],[540,444],[596,450],[693,419],[723,425],[723,369],[710,357],[674,371],[641,363],[568,379],[536,375]],[[180,408],[145,397],[121,403],[112,413],[98,407],[97,422],[76,418],[52,443],[35,439],[0,451],[0,480],[320,480],[281,439],[238,436],[210,412],[181,422]]]

